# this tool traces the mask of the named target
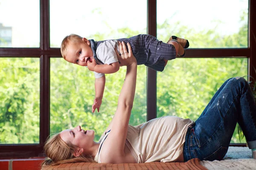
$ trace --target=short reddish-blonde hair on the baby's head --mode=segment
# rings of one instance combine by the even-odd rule
[[[76,44],[81,42],[83,37],[76,35],[76,34],[70,34],[67,35],[61,42],[61,55],[65,59],[67,55],[67,47],[70,45],[70,43]]]

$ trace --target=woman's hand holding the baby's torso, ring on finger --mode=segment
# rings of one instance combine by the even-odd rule
[[[117,50],[116,50],[116,55],[120,62],[120,66],[124,66],[124,65],[129,66],[129,65],[133,64],[134,62],[137,63],[137,60],[132,53],[131,45],[129,44],[129,42],[127,43],[129,52],[126,49],[125,42],[122,42],[122,43],[118,42],[118,45],[119,45],[119,51],[120,51],[121,55],[119,55]]]

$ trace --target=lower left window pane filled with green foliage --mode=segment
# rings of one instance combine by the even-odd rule
[[[0,62],[0,144],[39,143],[40,59]]]

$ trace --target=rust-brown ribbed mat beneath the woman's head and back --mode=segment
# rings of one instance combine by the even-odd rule
[[[134,164],[104,164],[80,162],[74,164],[61,164],[42,170],[207,170],[199,163],[199,159],[187,162],[148,162]]]

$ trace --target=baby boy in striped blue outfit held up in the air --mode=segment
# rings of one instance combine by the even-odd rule
[[[144,64],[155,71],[163,71],[168,60],[175,59],[177,55],[184,57],[184,48],[189,47],[188,40],[176,36],[170,37],[167,43],[148,34],[103,41],[87,40],[76,34],[66,36],[61,42],[62,57],[67,62],[87,66],[90,71],[94,71],[96,79],[92,112],[96,108],[99,112],[105,88],[105,74],[119,70],[116,50],[119,55],[122,54],[119,52],[118,42],[125,42],[126,46],[129,43],[137,64]],[[87,62],[90,64],[87,65]]]

